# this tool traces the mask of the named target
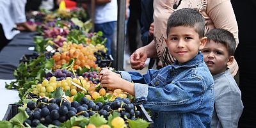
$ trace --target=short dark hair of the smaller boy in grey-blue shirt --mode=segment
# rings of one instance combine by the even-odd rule
[[[205,36],[207,37],[208,42],[212,40],[216,43],[225,45],[225,47],[228,49],[228,54],[230,56],[234,56],[236,51],[236,39],[234,38],[234,35],[230,33],[230,31],[220,28],[211,29],[205,34]]]

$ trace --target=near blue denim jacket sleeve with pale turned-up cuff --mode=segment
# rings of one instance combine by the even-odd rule
[[[156,81],[148,84],[134,84],[134,91],[139,93],[136,102],[142,102],[145,108],[155,111],[175,111],[186,113],[195,111],[202,104],[202,93],[205,85],[199,77],[184,77],[175,83],[168,83],[159,88],[154,85]]]

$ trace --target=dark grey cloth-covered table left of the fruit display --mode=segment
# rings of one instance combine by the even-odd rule
[[[16,35],[13,40],[0,52],[0,79],[15,79],[13,71],[19,65],[19,60],[24,54],[32,54],[34,51],[33,36],[36,32],[22,32]]]

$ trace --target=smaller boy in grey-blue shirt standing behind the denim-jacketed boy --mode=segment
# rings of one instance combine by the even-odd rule
[[[236,40],[225,29],[212,29],[202,49],[204,61],[214,79],[215,102],[212,127],[237,127],[243,112],[241,92],[231,76],[228,65],[234,60]]]

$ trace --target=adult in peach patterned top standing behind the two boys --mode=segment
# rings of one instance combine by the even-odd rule
[[[170,65],[175,58],[168,52],[168,48],[164,43],[166,38],[166,21],[168,15],[180,10],[181,8],[193,8],[200,12],[205,18],[205,32],[213,28],[223,28],[230,31],[236,38],[236,46],[238,45],[238,27],[236,17],[230,0],[157,0],[154,6],[154,40],[150,44],[140,47],[130,56],[131,67],[138,70],[145,67],[147,58],[159,58],[162,67]],[[236,75],[238,65],[236,60],[232,65],[228,66],[232,76]]]

